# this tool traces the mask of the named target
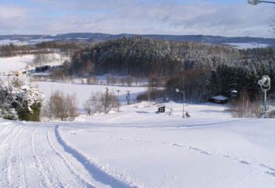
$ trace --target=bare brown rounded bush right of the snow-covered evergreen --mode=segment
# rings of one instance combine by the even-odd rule
[[[44,106],[43,113],[48,118],[60,119],[61,121],[76,118],[78,116],[76,97],[56,91]]]

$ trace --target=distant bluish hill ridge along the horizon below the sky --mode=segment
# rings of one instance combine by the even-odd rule
[[[1,41],[12,42],[30,42],[37,43],[39,41],[90,41],[100,42],[109,41],[111,39],[121,39],[122,37],[143,36],[149,39],[161,39],[164,41],[192,41],[211,44],[223,43],[258,43],[266,45],[275,45],[275,39],[267,39],[260,37],[227,37],[227,36],[207,36],[207,35],[164,35],[164,34],[104,34],[104,33],[67,33],[51,35],[0,35]]]

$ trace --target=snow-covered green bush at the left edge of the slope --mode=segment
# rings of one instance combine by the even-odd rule
[[[39,121],[43,94],[36,85],[13,79],[9,87],[0,85],[0,116],[10,120]]]

